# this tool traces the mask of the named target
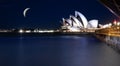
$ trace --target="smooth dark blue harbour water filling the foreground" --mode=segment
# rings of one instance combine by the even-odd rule
[[[120,54],[93,36],[0,37],[0,66],[120,66]]]

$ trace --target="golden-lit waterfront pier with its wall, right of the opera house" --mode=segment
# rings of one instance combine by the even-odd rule
[[[95,31],[95,36],[114,49],[120,50],[120,26],[113,25]]]

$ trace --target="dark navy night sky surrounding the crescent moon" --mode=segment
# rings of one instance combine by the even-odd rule
[[[0,0],[0,28],[59,28],[74,11],[102,24],[116,18],[98,0]]]

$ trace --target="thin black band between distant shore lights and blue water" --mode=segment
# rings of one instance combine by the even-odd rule
[[[43,33],[18,33],[18,32],[0,32],[0,36],[87,36],[94,33],[90,32],[43,32]]]

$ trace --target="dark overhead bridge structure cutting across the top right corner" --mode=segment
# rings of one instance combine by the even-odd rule
[[[120,18],[120,0],[100,0],[100,2]]]

